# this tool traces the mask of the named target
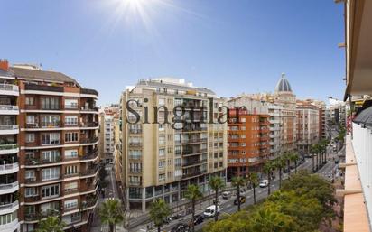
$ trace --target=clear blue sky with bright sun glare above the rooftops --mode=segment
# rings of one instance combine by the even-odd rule
[[[42,64],[117,103],[138,79],[173,77],[219,97],[343,97],[343,5],[333,0],[2,0],[0,58]]]

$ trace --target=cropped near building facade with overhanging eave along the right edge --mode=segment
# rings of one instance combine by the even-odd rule
[[[345,5],[346,90],[344,100],[372,95],[372,1],[348,0]],[[349,135],[346,138],[344,189],[345,232],[371,231],[372,221],[372,116],[371,101],[366,101],[355,112]]]

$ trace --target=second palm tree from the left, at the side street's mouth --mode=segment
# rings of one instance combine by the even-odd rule
[[[116,224],[124,221],[124,212],[119,200],[108,199],[98,209],[102,224],[108,225],[110,232],[116,230]]]

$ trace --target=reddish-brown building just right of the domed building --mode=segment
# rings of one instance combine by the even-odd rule
[[[311,153],[312,144],[320,139],[321,109],[312,100],[297,100],[297,149],[302,155]]]

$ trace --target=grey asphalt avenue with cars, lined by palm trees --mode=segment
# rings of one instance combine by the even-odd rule
[[[317,173],[320,174],[321,176],[323,176],[324,178],[326,178],[328,180],[331,180],[333,178],[332,173],[335,173],[335,171],[336,171],[336,164],[333,161],[333,157],[335,159],[337,159],[337,154],[332,153],[332,148],[331,147],[328,148],[328,153],[329,153],[329,155],[327,157],[330,158],[330,162],[327,162],[326,164],[324,164]],[[298,170],[312,171],[312,158],[306,158],[305,162],[303,162],[301,165],[299,165],[299,167],[297,169]],[[292,170],[291,172],[294,172],[294,171]],[[276,176],[278,176],[278,175],[276,175]],[[284,174],[284,179],[286,177],[287,177],[287,174]],[[278,189],[279,189],[279,180],[276,179],[276,180],[271,182],[271,190],[273,192],[274,190],[278,190]],[[245,208],[245,207],[253,204],[253,190],[246,190],[246,192],[242,193],[241,195],[246,196],[246,202],[244,204],[242,204],[242,208]],[[267,188],[256,188],[256,200],[257,201],[258,200],[263,200],[266,197],[267,197]],[[232,196],[229,200],[222,200],[220,198],[219,201],[220,201],[220,208],[221,208],[221,213],[220,213],[221,216],[230,215],[230,214],[235,213],[237,211],[237,206],[234,205],[234,200],[235,199],[236,199],[236,196]],[[209,207],[209,205],[210,205],[209,201],[202,202],[202,203],[198,204],[197,205],[198,210],[196,211],[196,215],[202,214],[203,209]],[[200,223],[199,225],[195,226],[195,230],[196,231],[201,230],[201,228],[204,225],[206,225],[206,223],[208,223],[209,221],[211,221],[213,219],[214,218],[205,219],[203,223]],[[178,224],[178,223],[188,224],[188,222],[190,220],[191,220],[191,215],[187,215],[183,218],[173,220],[170,224],[164,225],[162,227],[162,230],[163,231],[164,230],[165,231],[170,231],[172,229],[172,227],[174,227],[176,224]],[[143,228],[145,228],[145,226]],[[138,230],[131,230],[131,231],[138,231]]]

